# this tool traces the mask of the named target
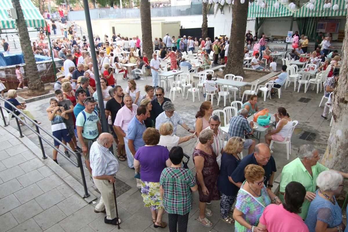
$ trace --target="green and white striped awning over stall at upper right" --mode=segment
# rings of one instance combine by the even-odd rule
[[[347,15],[347,9],[345,8],[345,0],[331,0],[332,6],[335,4],[339,6],[338,10],[333,10],[332,6],[330,9],[324,9],[324,1],[321,0],[315,1],[313,10],[306,8],[306,4],[298,6],[300,1],[294,1],[294,3],[297,4],[295,9],[290,9],[288,7],[290,2],[283,4],[278,0],[264,0],[263,2],[266,4],[265,8],[261,8],[261,5],[256,6],[256,2],[257,1],[251,3],[251,7],[248,8],[248,17],[267,18],[293,16],[295,18],[303,18]],[[273,6],[276,2],[279,3],[278,9],[276,9]]]

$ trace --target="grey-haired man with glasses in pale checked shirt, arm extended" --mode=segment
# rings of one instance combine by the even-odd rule
[[[194,130],[191,130],[186,123],[181,119],[180,115],[175,112],[174,104],[172,102],[165,102],[163,104],[163,110],[164,112],[160,113],[158,117],[156,118],[156,126],[155,128],[159,130],[159,127],[164,122],[169,122],[173,125],[173,133],[172,135],[176,134],[176,126],[179,124],[181,125],[185,130],[189,131],[190,133],[195,133]]]

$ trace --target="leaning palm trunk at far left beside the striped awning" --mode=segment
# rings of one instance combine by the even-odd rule
[[[38,68],[36,66],[33,51],[31,49],[31,42],[29,32],[25,24],[22,7],[19,0],[12,0],[13,7],[16,8],[18,19],[17,30],[21,48],[23,51],[24,61],[27,68],[28,87],[33,94],[40,94],[44,92],[44,83],[39,76]]]

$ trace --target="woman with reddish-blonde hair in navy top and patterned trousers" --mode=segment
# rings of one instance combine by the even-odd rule
[[[240,137],[230,138],[223,148],[221,156],[221,167],[219,178],[217,178],[217,189],[221,192],[220,212],[221,220],[234,224],[235,220],[228,216],[232,213],[231,207],[237,198],[239,188],[232,181],[231,174],[240,162],[238,153],[243,151],[244,139]]]

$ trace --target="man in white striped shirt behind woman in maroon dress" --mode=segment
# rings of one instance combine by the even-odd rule
[[[220,128],[220,118],[217,115],[212,115],[209,118],[209,126],[205,129],[212,129],[214,132],[214,143],[212,144],[213,151],[216,154],[217,164],[221,165],[221,155],[223,153],[224,136]]]

